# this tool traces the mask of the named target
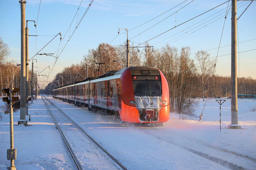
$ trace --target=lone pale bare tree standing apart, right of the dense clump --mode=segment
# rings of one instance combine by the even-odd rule
[[[213,75],[215,62],[209,59],[210,55],[207,51],[197,51],[195,58],[197,60],[197,74],[200,77],[200,87],[202,98],[204,99],[204,94],[208,93],[209,89],[206,89],[206,83],[211,75]]]

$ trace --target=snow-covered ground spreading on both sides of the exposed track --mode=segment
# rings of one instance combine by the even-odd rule
[[[199,101],[195,117],[170,113],[164,127],[131,127],[119,124],[114,116],[103,116],[51,99],[80,127],[101,143],[127,169],[256,169],[256,100],[238,99],[238,124],[241,129],[227,129],[231,123],[231,101],[220,105]],[[2,103],[3,104],[3,103]],[[14,113],[14,148],[16,169],[75,169],[56,125],[41,97],[30,104],[29,126],[17,125]],[[29,116],[26,117],[29,120]],[[72,139],[70,139],[72,141]],[[98,157],[88,143],[79,141],[86,156]],[[74,143],[77,141],[73,141]],[[0,122],[0,169],[10,166],[6,150],[10,148],[9,115]],[[101,159],[87,162],[88,169],[106,169]]]

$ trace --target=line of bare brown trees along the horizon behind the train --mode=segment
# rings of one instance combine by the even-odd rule
[[[2,88],[19,87],[20,67],[14,61],[7,61],[10,56],[8,45],[0,37],[0,86]],[[149,44],[144,47],[133,47],[130,44],[129,65],[156,67],[165,75],[169,85],[170,111],[177,113],[193,113],[197,100],[201,97],[231,96],[230,76],[215,74],[216,61],[210,59],[207,51],[197,51],[191,56],[190,47],[178,49],[166,45],[154,50]],[[64,67],[57,73],[54,80],[40,93],[51,94],[52,89],[82,81],[86,77],[97,77],[112,70],[120,70],[126,65],[126,44],[110,46],[102,43],[95,49],[88,50],[80,63]],[[35,75],[33,75],[35,77]],[[33,79],[34,83],[35,79]],[[238,94],[256,95],[256,80],[252,77],[238,78]],[[31,70],[29,70],[29,94],[31,89]],[[30,94],[31,95],[31,94]]]

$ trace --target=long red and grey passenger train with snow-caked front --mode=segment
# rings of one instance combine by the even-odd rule
[[[169,89],[163,73],[154,67],[127,67],[53,90],[53,97],[89,110],[115,114],[130,123],[169,120]]]

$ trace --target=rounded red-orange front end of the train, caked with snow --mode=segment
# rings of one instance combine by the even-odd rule
[[[123,87],[121,120],[131,123],[169,120],[169,88],[159,69],[129,67],[120,78]]]

